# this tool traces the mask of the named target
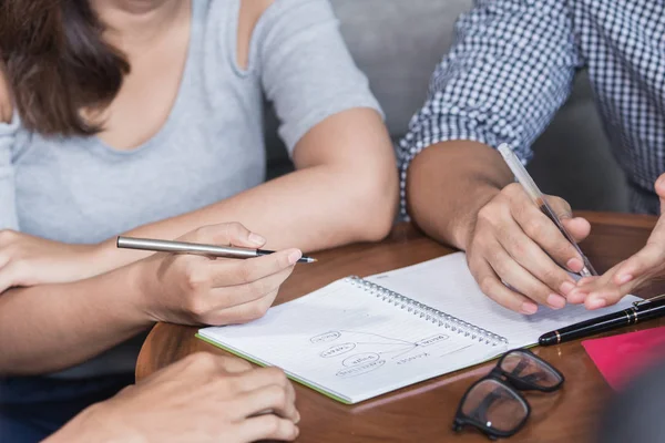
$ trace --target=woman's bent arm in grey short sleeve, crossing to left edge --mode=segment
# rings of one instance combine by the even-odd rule
[[[319,0],[291,0],[273,2],[268,13],[278,19],[256,30],[254,64],[260,66],[296,171],[124,235],[173,239],[198,226],[239,222],[267,238],[267,248],[313,251],[379,240],[390,231],[398,195],[392,143],[331,8]],[[0,261],[8,261],[0,269],[0,292],[90,277],[147,255],[116,250],[114,241],[75,246],[0,235]]]

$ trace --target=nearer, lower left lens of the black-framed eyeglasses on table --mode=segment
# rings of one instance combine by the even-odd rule
[[[528,414],[526,404],[495,380],[478,383],[464,399],[462,413],[498,431],[512,431]]]

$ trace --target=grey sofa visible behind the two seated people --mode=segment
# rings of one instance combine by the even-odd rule
[[[453,39],[457,17],[471,0],[331,0],[341,32],[386,112],[395,141],[422,105],[436,64]],[[266,119],[268,176],[290,169]],[[534,145],[529,166],[543,192],[566,198],[574,209],[627,210],[625,178],[610,153],[584,75],[555,121]]]

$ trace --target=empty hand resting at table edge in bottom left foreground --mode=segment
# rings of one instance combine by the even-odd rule
[[[299,419],[283,371],[198,353],[86,409],[47,442],[291,441]]]

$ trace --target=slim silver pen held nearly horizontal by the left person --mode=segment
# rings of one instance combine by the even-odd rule
[[[198,254],[226,258],[254,258],[274,254],[274,250],[245,249],[233,246],[202,245],[185,241],[155,240],[150,238],[117,237],[116,246],[124,249],[151,250],[155,253]],[[300,257],[298,262],[315,262],[316,258]]]

